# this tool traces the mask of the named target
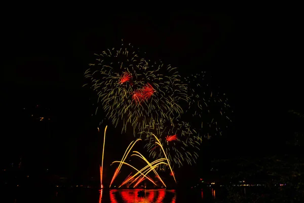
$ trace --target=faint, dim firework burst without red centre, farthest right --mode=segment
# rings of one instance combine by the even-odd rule
[[[202,138],[221,136],[232,122],[233,110],[227,95],[202,72],[184,78],[188,85],[189,105],[181,119],[191,119],[193,130]]]

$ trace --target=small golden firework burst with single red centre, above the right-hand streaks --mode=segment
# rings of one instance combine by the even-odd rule
[[[182,166],[184,162],[192,164],[198,159],[202,139],[189,123],[178,122],[171,125],[162,120],[146,127],[140,134],[146,138],[145,147],[150,157],[168,158],[172,164],[178,166]]]

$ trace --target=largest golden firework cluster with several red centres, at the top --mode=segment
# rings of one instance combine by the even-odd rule
[[[172,121],[183,113],[180,103],[188,103],[187,86],[175,67],[139,57],[131,45],[95,55],[96,62],[85,72],[87,85],[113,125],[122,123],[126,131],[130,124],[135,134],[147,123]]]

